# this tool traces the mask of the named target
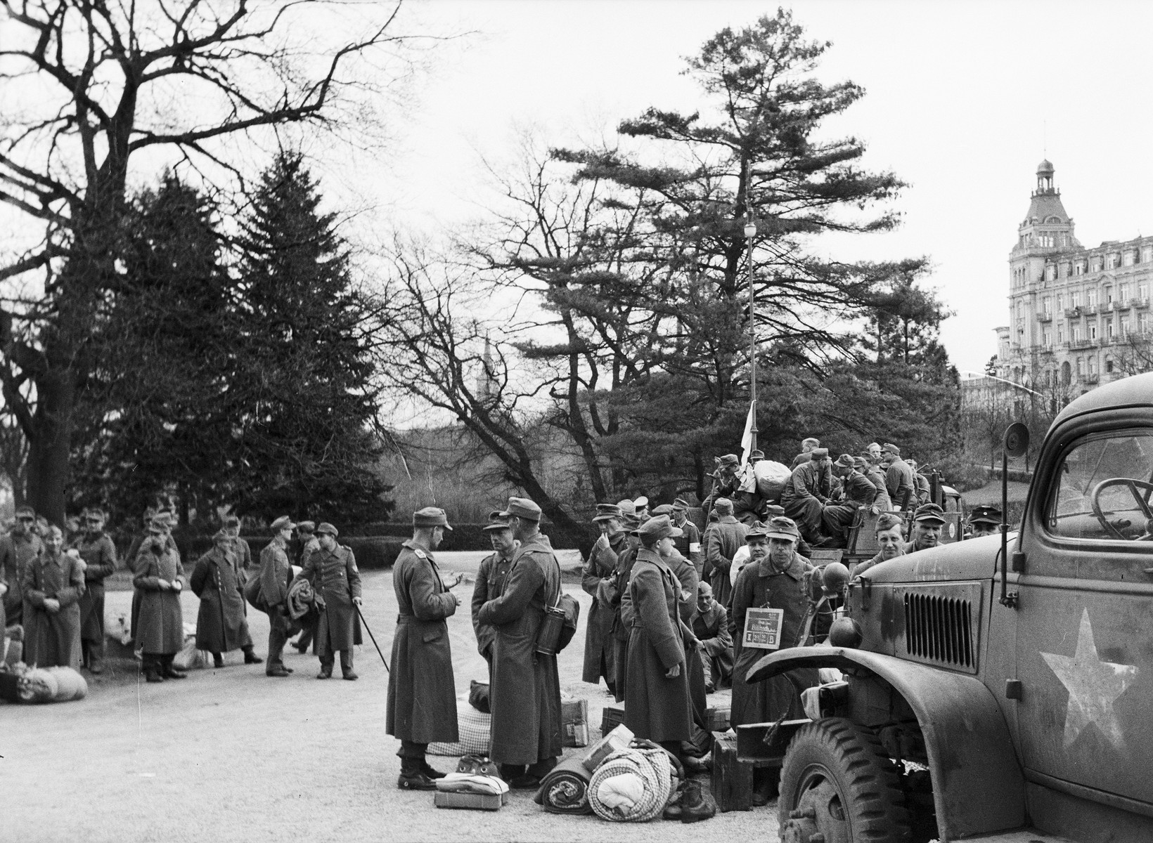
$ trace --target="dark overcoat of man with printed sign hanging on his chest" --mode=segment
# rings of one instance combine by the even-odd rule
[[[745,676],[768,650],[743,647],[745,617],[749,608],[784,609],[781,626],[781,647],[796,646],[800,623],[808,598],[805,593],[805,572],[813,569],[804,556],[793,554],[792,564],[778,574],[768,556],[756,564],[748,564],[737,575],[732,592],[732,620],[729,631],[736,645],[737,663],[732,674],[732,709],[729,722],[736,729],[744,723],[764,723],[787,714],[787,720],[804,717],[799,688],[817,684],[815,668],[790,671],[752,685]],[[794,685],[790,679],[796,679]]]

